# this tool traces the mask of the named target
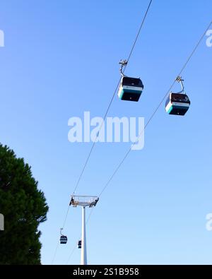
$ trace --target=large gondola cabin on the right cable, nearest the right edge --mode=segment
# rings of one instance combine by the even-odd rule
[[[184,115],[190,104],[191,102],[186,94],[170,93],[165,103],[165,110],[168,114]]]

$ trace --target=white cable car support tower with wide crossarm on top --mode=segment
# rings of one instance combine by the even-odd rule
[[[87,265],[86,249],[86,207],[93,208],[98,203],[98,196],[71,196],[70,206],[82,208],[81,265]]]

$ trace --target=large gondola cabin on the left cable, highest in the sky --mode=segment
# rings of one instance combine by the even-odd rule
[[[143,91],[143,83],[140,78],[123,76],[119,85],[118,96],[120,100],[138,102]]]

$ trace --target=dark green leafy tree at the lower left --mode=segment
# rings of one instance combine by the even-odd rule
[[[40,231],[48,206],[30,166],[0,144],[0,264],[40,264]]]

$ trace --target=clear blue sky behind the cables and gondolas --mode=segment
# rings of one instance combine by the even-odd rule
[[[1,1],[0,141],[32,166],[49,204],[42,263],[52,261],[70,195],[92,143],[69,143],[70,117],[103,116],[148,0]],[[108,116],[145,117],[167,92],[211,20],[211,0],[157,1],[126,70],[141,76],[138,103],[114,98]],[[212,29],[212,28],[211,28]],[[183,73],[185,117],[160,107],[88,222],[88,263],[212,263],[211,72],[206,37]],[[175,88],[176,90],[178,87]],[[99,194],[130,143],[98,143],[78,194]],[[88,212],[88,211],[87,211]],[[54,263],[65,264],[81,234],[71,208]],[[76,249],[69,263],[80,261]]]

